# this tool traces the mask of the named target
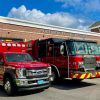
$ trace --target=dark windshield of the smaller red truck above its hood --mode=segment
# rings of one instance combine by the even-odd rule
[[[14,53],[7,53],[5,54],[6,60],[8,62],[29,62],[33,61],[32,57],[29,54],[14,54]]]

